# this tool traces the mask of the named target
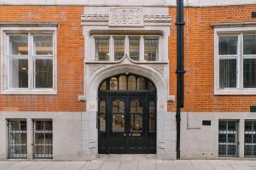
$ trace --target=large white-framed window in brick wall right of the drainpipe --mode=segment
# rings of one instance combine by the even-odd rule
[[[217,30],[215,94],[256,94],[256,32]]]

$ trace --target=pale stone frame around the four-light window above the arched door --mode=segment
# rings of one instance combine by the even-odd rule
[[[109,60],[108,61],[101,61],[101,60],[96,60],[96,56],[95,56],[95,39],[96,38],[106,38],[109,37]],[[129,37],[139,37],[140,39],[140,43],[139,43],[139,60],[133,60],[134,62],[147,62],[147,63],[154,63],[154,62],[159,62],[161,61],[161,55],[162,55],[162,50],[161,50],[161,43],[162,43],[162,38],[160,35],[127,35],[127,34],[111,34],[111,35],[92,35],[91,36],[91,55],[93,56],[92,61],[95,62],[104,62],[104,63],[108,63],[108,62],[119,62],[119,60],[114,60],[114,37],[125,37],[125,55],[127,54],[128,57],[130,58],[130,47],[129,47]],[[144,59],[144,39],[145,37],[152,37],[152,38],[158,38],[158,56],[157,59],[155,61],[145,61]],[[124,55],[124,57],[125,57]],[[122,59],[120,59],[122,60]]]

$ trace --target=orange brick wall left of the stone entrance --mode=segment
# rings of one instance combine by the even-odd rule
[[[83,7],[2,6],[0,21],[58,22],[57,95],[0,95],[0,111],[85,111],[83,92]]]

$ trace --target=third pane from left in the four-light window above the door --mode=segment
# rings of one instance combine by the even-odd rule
[[[133,60],[139,60],[140,56],[140,39],[130,37],[129,39],[129,52],[130,52],[130,58]]]

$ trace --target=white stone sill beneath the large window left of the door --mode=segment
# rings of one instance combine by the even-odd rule
[[[8,89],[1,91],[1,94],[23,94],[23,95],[55,95],[57,91],[53,88],[49,89]]]

